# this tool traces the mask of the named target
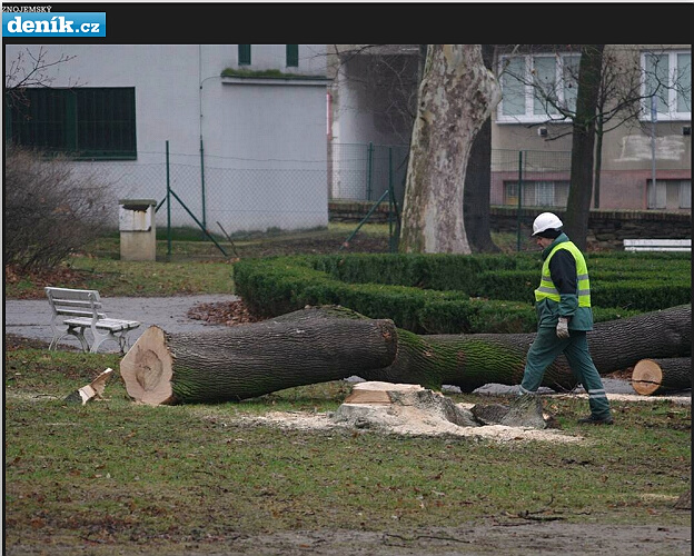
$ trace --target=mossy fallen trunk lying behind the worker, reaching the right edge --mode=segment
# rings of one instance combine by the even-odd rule
[[[646,357],[691,355],[691,305],[598,322],[588,332],[593,363],[601,375],[608,375]],[[463,391],[486,384],[517,385],[534,339],[535,334],[417,336],[398,329],[398,354],[393,365],[359,376],[366,380],[419,384],[430,389],[452,385]],[[547,368],[542,385],[562,391],[576,384],[562,355]]]

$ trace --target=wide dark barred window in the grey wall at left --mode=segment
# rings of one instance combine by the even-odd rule
[[[133,88],[30,88],[6,103],[7,137],[76,158],[137,157]]]

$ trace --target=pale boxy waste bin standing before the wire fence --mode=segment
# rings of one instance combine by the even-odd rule
[[[118,201],[121,260],[156,260],[157,226],[153,199],[121,199]]]

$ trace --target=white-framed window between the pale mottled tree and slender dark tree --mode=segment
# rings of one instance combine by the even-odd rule
[[[576,111],[578,54],[502,57],[497,122],[544,122]]]

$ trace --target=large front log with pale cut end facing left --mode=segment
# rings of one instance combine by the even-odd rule
[[[335,315],[309,309],[207,334],[151,326],[123,357],[120,375],[136,401],[170,405],[241,400],[393,361],[391,320]]]

